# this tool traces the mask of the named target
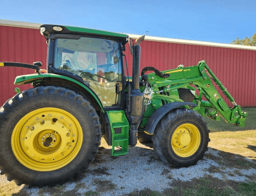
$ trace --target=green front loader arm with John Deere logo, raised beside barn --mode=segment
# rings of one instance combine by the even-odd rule
[[[191,89],[190,85],[195,85],[195,89],[199,90],[199,95],[195,94],[193,102],[197,106],[193,110],[198,111],[202,116],[208,116],[215,120],[220,120],[220,117],[222,117],[228,123],[245,126],[247,112],[241,111],[241,106],[234,102],[233,97],[213,74],[205,61],[200,61],[197,66],[179,67],[162,73],[169,74],[169,77],[162,78],[156,74],[148,74],[149,81],[154,87],[153,90],[157,90],[154,91],[154,95],[160,93],[159,88],[162,89],[162,92],[169,92],[179,88]],[[217,84],[233,104],[232,108],[228,107],[212,81]],[[202,97],[205,97],[207,101],[202,101]]]

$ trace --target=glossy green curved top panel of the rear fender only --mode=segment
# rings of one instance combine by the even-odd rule
[[[57,75],[57,74],[29,74],[29,75],[17,76],[15,78],[14,84],[15,85],[29,84],[29,83],[32,83],[33,81],[41,81],[43,78],[47,78],[47,77],[61,78],[61,79],[64,79],[64,80],[69,80],[69,81],[71,81],[71,82],[73,82],[73,83],[83,87],[91,95],[93,95],[93,97],[95,98],[95,100],[99,104],[99,106],[102,109],[102,111],[105,112],[103,107],[102,107],[102,104],[101,104],[100,100],[94,94],[94,92],[92,90],[90,90],[87,86],[85,86],[81,82],[79,82],[79,81],[77,81],[77,80],[75,80],[73,78],[67,77],[67,76],[62,76],[62,75]]]

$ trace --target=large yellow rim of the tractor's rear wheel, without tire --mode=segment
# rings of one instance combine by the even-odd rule
[[[52,171],[69,164],[83,142],[80,123],[59,108],[40,108],[18,121],[11,138],[17,160],[35,171]]]

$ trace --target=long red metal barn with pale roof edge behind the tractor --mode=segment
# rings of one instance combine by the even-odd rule
[[[0,20],[0,62],[41,61],[46,69],[47,44],[39,31],[40,24]],[[130,35],[137,38],[139,35]],[[132,73],[132,57],[126,46],[129,73]],[[141,43],[141,69],[174,69],[178,65],[197,65],[206,60],[214,74],[222,81],[235,102],[244,107],[256,106],[256,47],[210,42],[188,41],[146,36]],[[17,75],[33,73],[33,70],[1,67],[0,105],[15,95],[13,85]],[[30,85],[18,86],[21,90]],[[229,106],[226,97],[221,93]]]

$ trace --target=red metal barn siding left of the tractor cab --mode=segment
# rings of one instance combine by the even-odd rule
[[[0,26],[0,44],[0,62],[33,63],[34,61],[41,61],[46,68],[47,44],[39,30]],[[35,47],[35,44],[38,48]],[[15,95],[14,88],[18,87],[21,91],[31,88],[31,84],[20,86],[13,84],[17,75],[31,73],[34,71],[20,67],[1,67],[0,105]]]

